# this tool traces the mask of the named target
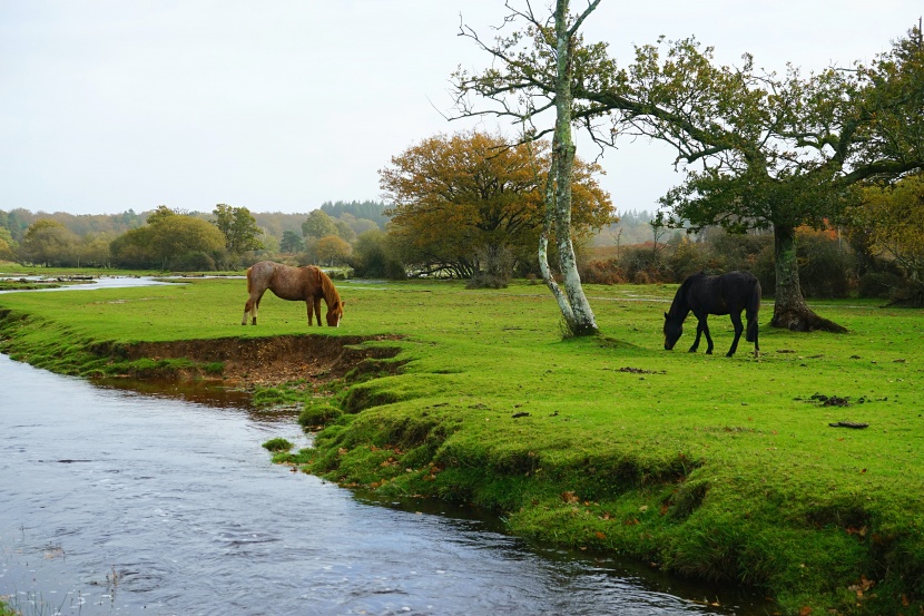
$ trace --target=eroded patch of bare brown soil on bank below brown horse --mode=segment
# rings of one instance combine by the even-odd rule
[[[243,385],[297,380],[321,383],[343,378],[365,360],[394,358],[400,351],[395,346],[362,346],[374,340],[397,338],[287,335],[140,342],[128,345],[124,352],[130,360],[185,358],[204,364],[222,362],[222,379]]]

